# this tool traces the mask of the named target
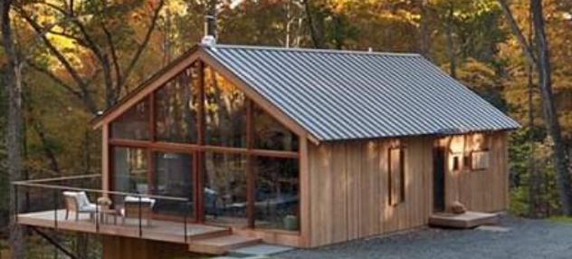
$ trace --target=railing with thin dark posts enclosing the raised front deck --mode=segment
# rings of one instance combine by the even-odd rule
[[[114,219],[114,225],[120,220],[121,225],[137,219],[138,237],[142,238],[144,231],[153,221],[152,210],[154,206],[164,202],[168,205],[176,204],[176,218],[184,225],[184,242],[188,243],[188,217],[191,216],[192,203],[184,197],[166,197],[128,193],[119,191],[104,191],[101,189],[101,175],[82,175],[73,177],[44,178],[12,183],[14,187],[14,212],[16,221],[26,214],[52,211],[52,226],[59,228],[63,221],[86,220],[77,213],[89,214],[87,220],[95,228],[95,233],[100,233],[101,225],[109,225],[108,218]],[[77,208],[66,204],[64,192],[85,193],[91,204],[91,212],[78,212]],[[25,199],[24,203],[22,198]],[[129,206],[127,204],[129,203]],[[179,208],[183,208],[182,210]],[[66,218],[62,218],[61,212],[66,211]],[[134,217],[132,214],[136,214]],[[143,223],[146,223],[144,225]],[[131,225],[129,225],[131,226]]]

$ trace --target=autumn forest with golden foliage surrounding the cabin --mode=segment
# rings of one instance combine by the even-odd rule
[[[522,126],[510,214],[572,216],[569,0],[2,0],[0,25],[0,251],[14,259],[57,253],[11,227],[10,181],[100,172],[90,121],[205,26],[224,44],[422,54]],[[79,254],[97,243],[69,238]]]

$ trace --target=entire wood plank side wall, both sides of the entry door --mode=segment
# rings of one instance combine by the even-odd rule
[[[433,149],[458,144],[472,149],[470,136],[377,139],[309,144],[308,243],[315,247],[411,229],[427,224],[433,213]],[[445,206],[459,199],[472,210],[508,207],[507,136],[488,135],[491,167],[445,172]],[[444,141],[450,140],[450,141]],[[387,152],[396,141],[405,146],[405,202],[388,205]],[[446,156],[446,159],[450,159]],[[445,164],[447,165],[447,163]]]

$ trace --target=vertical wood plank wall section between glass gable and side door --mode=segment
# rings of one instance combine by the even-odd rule
[[[434,139],[405,146],[405,202],[388,205],[387,152],[395,140],[309,145],[309,246],[426,225],[432,211]]]

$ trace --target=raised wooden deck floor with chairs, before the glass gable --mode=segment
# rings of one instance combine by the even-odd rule
[[[54,211],[20,214],[18,215],[18,223],[21,225],[48,227],[100,235],[141,238],[178,244],[191,244],[196,240],[231,234],[231,230],[228,228],[187,223],[185,238],[185,224],[180,222],[154,219],[151,225],[146,225],[145,221],[143,221],[143,225],[139,231],[138,219],[126,219],[125,223],[122,223],[122,220],[118,218],[117,224],[114,224],[114,220],[111,217],[104,223],[95,224],[87,214],[82,214],[77,221],[75,220],[75,215],[71,214],[70,219],[66,220],[65,210],[57,211],[57,221],[54,220],[55,217],[56,214]]]

